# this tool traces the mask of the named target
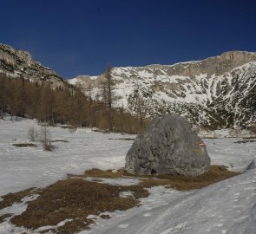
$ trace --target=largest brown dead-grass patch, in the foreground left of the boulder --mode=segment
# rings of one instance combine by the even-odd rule
[[[132,191],[135,198],[120,198],[119,193]],[[105,211],[121,210],[139,205],[138,198],[148,197],[142,186],[116,186],[99,184],[82,178],[65,179],[49,185],[36,200],[28,202],[21,215],[11,218],[17,226],[36,230],[47,225],[56,225],[65,219],[72,221],[58,227],[56,233],[75,233],[89,228],[94,223],[89,215],[100,215]]]

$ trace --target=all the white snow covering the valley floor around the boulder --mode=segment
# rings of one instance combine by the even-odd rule
[[[40,132],[35,120],[0,120],[0,196],[32,186],[49,185],[65,178],[67,173],[79,174],[94,167],[118,169],[124,166],[125,155],[133,141],[108,139],[135,138],[82,128],[69,133],[68,129],[49,127],[52,140],[69,142],[53,143],[56,146],[53,153],[44,152],[38,142],[38,147],[13,146],[29,142],[28,130],[34,126]],[[256,233],[256,142],[234,143],[238,140],[204,141],[212,164],[244,172],[239,176],[190,192],[154,187],[148,198],[141,199],[141,206],[115,211],[108,220],[97,218],[90,231],[80,234]],[[250,170],[246,170],[248,166]],[[33,198],[26,198],[22,205],[13,205],[8,211],[22,212],[29,199]],[[4,212],[7,211],[0,210],[0,216]],[[23,231],[26,230],[8,222],[0,224],[1,234]]]

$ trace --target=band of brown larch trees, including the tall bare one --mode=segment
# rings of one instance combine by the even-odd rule
[[[79,88],[65,82],[63,88],[53,89],[49,84],[38,84],[23,78],[0,75],[0,118],[4,113],[36,118],[51,126],[57,123],[71,127],[97,127],[105,131],[141,133],[141,121],[124,108],[112,106],[111,68],[106,71],[105,95],[92,100]],[[102,88],[103,90],[104,88]],[[145,127],[146,125],[144,125]]]

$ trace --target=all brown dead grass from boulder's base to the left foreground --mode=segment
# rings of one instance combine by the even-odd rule
[[[89,229],[89,225],[94,223],[93,219],[88,218],[89,215],[110,218],[104,212],[125,211],[140,205],[139,198],[147,198],[149,195],[147,188],[165,185],[178,190],[199,189],[237,174],[227,171],[225,166],[211,166],[209,172],[198,177],[140,177],[141,183],[138,185],[123,186],[97,183],[85,178],[92,177],[98,180],[101,178],[130,178],[131,175],[128,173],[92,169],[84,172],[81,176],[69,175],[68,179],[57,181],[55,184],[37,191],[36,193],[40,196],[36,200],[28,202],[27,210],[21,215],[11,218],[10,221],[17,226],[36,230],[39,227],[56,225],[65,219],[70,219],[69,222],[51,231],[73,234]],[[14,202],[12,197],[19,198],[16,201],[20,201],[23,196],[30,194],[31,190],[3,196],[2,203],[5,205],[2,206],[11,205]],[[132,192],[133,196],[122,197],[121,192]]]

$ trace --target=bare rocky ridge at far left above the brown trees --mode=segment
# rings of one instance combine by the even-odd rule
[[[64,87],[62,78],[50,68],[33,61],[29,52],[3,44],[0,44],[0,73],[13,78],[23,76],[39,84],[46,82],[52,88]]]

